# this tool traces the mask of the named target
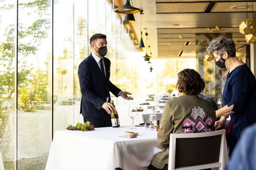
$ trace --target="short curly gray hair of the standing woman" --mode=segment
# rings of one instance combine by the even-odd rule
[[[226,51],[230,57],[236,56],[236,47],[234,41],[230,38],[225,38],[224,36],[214,38],[209,43],[207,48],[207,52],[210,55],[213,55],[213,52],[215,52],[218,55],[223,56],[224,51]]]

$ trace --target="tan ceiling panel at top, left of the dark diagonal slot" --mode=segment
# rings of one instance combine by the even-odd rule
[[[204,12],[210,2],[157,3],[156,13]]]

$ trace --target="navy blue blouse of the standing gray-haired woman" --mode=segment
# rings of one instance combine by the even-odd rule
[[[246,64],[227,74],[223,90],[223,103],[231,106],[232,128],[239,139],[241,131],[256,122],[256,80]]]

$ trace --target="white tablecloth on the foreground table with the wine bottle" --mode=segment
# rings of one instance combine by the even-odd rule
[[[140,170],[148,166],[155,150],[159,149],[157,132],[136,127],[137,138],[119,135],[129,127],[95,128],[95,131],[56,131],[46,170],[93,169]]]

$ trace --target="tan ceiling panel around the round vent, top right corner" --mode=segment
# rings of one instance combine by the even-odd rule
[[[233,9],[235,6],[246,6],[246,1],[244,2],[217,2],[212,8],[211,12],[246,12],[246,9]],[[252,3],[248,2],[249,8],[247,11],[252,11]],[[256,6],[253,7],[254,11]]]

